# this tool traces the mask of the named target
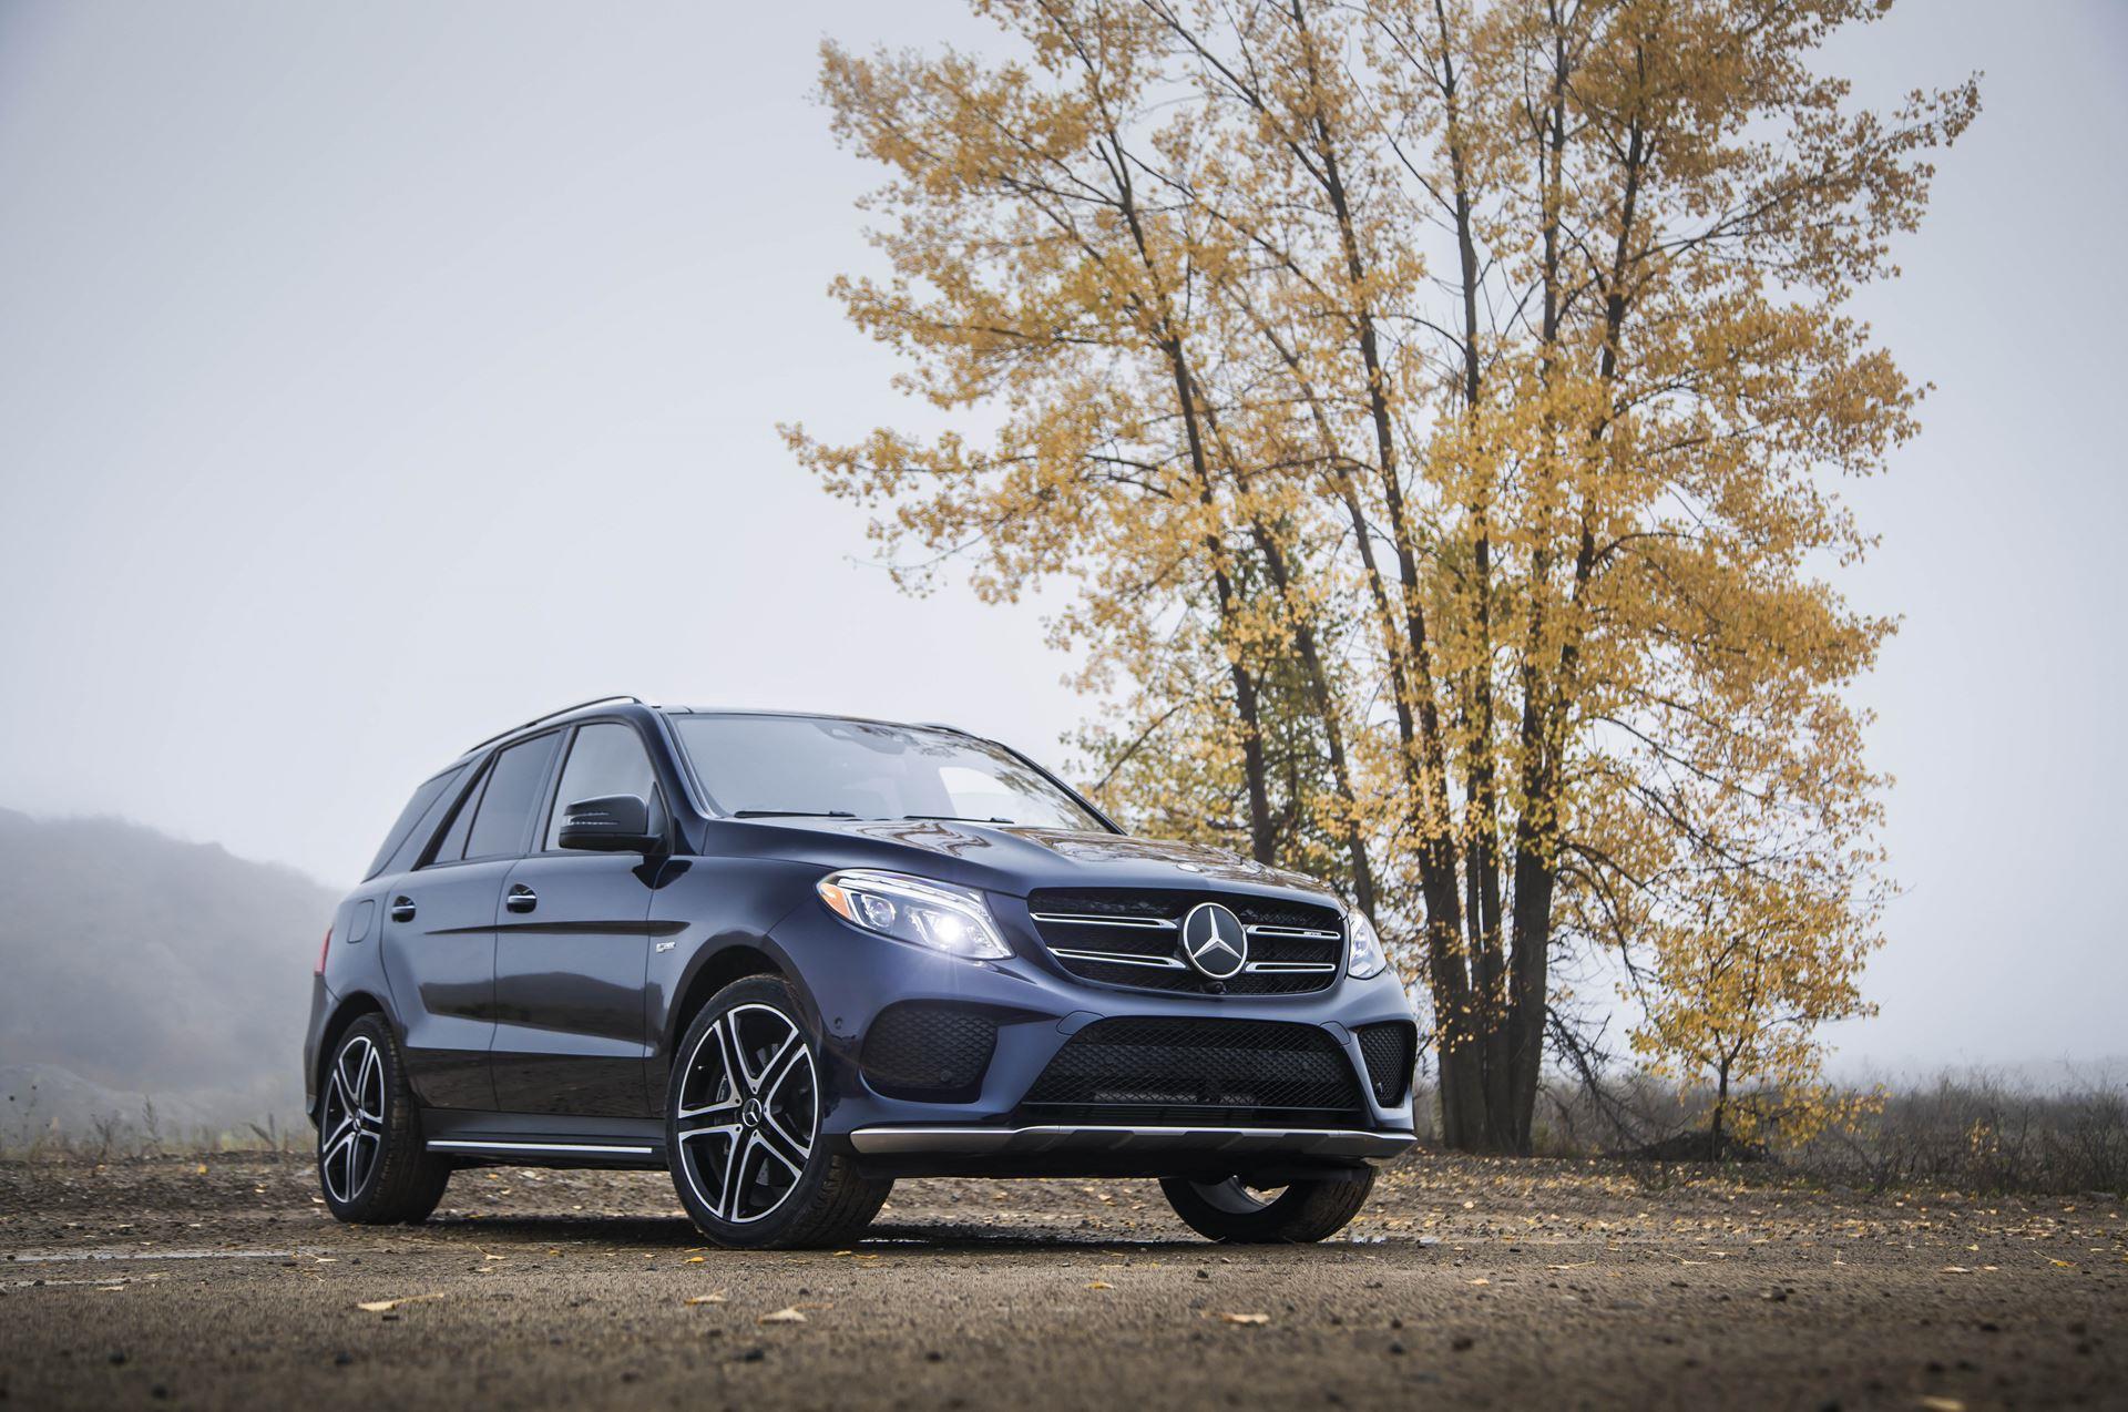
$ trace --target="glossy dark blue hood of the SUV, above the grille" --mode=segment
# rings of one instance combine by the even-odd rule
[[[1038,887],[1145,887],[1170,891],[1304,893],[1336,906],[1315,878],[1204,844],[1081,829],[941,819],[747,821],[762,853],[824,868],[892,868],[1026,895]]]

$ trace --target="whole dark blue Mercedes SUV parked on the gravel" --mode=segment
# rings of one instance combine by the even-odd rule
[[[1415,1042],[1334,891],[1002,744],[606,697],[415,791],[304,1080],[340,1221],[662,1165],[726,1246],[845,1242],[896,1176],[1151,1176],[1215,1240],[1319,1240],[1411,1144]]]

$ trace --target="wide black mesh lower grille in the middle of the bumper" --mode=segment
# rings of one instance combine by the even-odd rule
[[[1094,1021],[1058,1050],[1024,1110],[1045,1123],[1349,1123],[1351,1061],[1328,1031],[1279,1021]]]

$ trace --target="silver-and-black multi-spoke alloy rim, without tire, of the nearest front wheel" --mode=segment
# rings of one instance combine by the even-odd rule
[[[768,1216],[798,1189],[819,1131],[819,1076],[798,1021],[732,1006],[687,1055],[672,1136],[679,1170],[719,1221]]]

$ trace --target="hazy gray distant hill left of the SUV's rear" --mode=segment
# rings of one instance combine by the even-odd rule
[[[177,1125],[302,1108],[336,897],[294,868],[117,819],[0,810],[0,1131],[153,1097]],[[13,1099],[13,1102],[9,1102]]]

